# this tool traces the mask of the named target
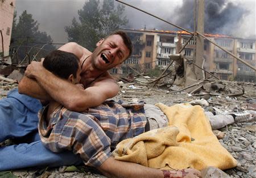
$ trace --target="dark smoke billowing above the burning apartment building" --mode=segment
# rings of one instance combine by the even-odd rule
[[[179,26],[193,30],[194,1],[183,1],[177,9],[175,23]],[[205,0],[204,28],[206,33],[234,34],[237,28],[249,14],[249,10],[241,4],[234,4],[224,0]],[[173,19],[168,18],[168,19]]]

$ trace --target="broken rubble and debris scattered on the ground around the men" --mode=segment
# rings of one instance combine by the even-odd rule
[[[8,80],[8,82],[7,82]],[[146,79],[145,79],[146,80]],[[154,80],[151,79],[150,80]],[[212,81],[211,81],[212,82]],[[214,82],[216,82],[214,80]],[[201,84],[201,83],[200,83]],[[163,103],[166,105],[174,105],[177,103],[189,103],[191,101],[200,100],[207,101],[208,105],[201,105],[207,112],[213,112],[217,115],[228,115],[234,112],[249,112],[254,120],[243,120],[243,122],[234,122],[214,131],[216,137],[219,139],[222,146],[224,146],[238,161],[236,168],[224,170],[230,177],[255,177],[256,174],[256,121],[255,110],[251,109],[251,105],[256,104],[256,86],[253,83],[240,82],[226,82],[217,81],[214,87],[209,84],[209,93],[201,88],[197,94],[189,94],[182,90],[181,86],[171,86],[170,92],[167,93],[168,88],[155,88],[152,85],[145,83],[138,83],[135,79],[133,83],[119,82],[121,90],[119,94],[113,98],[114,100],[124,100],[127,103],[145,101],[147,104]],[[204,84],[205,86],[205,84]],[[244,87],[244,95],[226,96],[232,94],[233,90],[228,90],[228,86]],[[15,80],[1,77],[0,94],[1,98],[5,98],[6,94],[12,88],[18,87]],[[237,91],[242,91],[238,87]],[[207,87],[205,87],[207,88]],[[172,93],[172,91],[176,91]],[[214,95],[213,95],[214,94]],[[206,97],[207,96],[207,97]],[[15,170],[13,173],[19,177],[104,177],[96,172],[94,169],[82,166],[86,171],[64,172],[61,168],[44,169],[43,171],[36,171],[38,169],[23,169]],[[80,170],[80,169],[79,169]],[[37,172],[37,173],[36,173]],[[36,175],[36,176],[35,176]]]

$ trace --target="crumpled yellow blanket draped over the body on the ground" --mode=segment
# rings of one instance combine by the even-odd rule
[[[170,126],[118,143],[115,159],[160,169],[236,167],[236,159],[212,133],[203,108],[189,104],[156,106],[166,114]]]

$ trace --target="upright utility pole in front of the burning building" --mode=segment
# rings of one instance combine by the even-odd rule
[[[197,2],[197,31],[204,34],[204,0],[199,0]],[[196,36],[196,65],[202,66],[204,58],[204,39],[203,37]],[[202,70],[199,67],[194,67],[196,78],[203,79]]]

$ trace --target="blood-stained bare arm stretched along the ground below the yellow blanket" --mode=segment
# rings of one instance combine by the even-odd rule
[[[136,163],[122,162],[119,160],[115,160],[113,157],[107,159],[100,167],[98,167],[98,170],[101,171],[107,177],[201,177],[200,172],[192,168],[183,169],[180,171],[168,171],[164,176],[163,171],[161,171],[160,169],[148,168]]]

